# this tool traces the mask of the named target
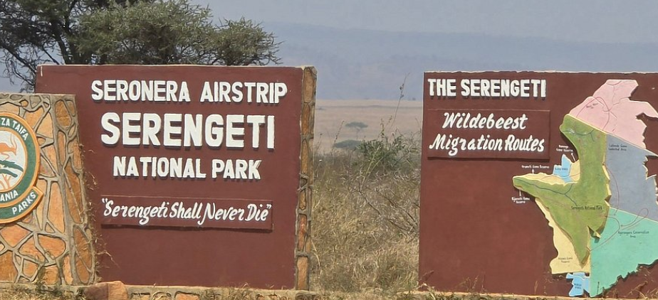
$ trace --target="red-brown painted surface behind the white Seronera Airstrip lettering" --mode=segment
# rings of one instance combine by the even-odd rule
[[[38,92],[75,95],[80,142],[88,171],[88,195],[95,213],[96,230],[100,234],[100,246],[107,252],[100,255],[99,271],[103,280],[121,280],[127,284],[294,287],[302,75],[302,68],[189,65],[48,65],[39,68]],[[187,82],[191,101],[112,102],[105,101],[106,95],[103,93],[100,93],[103,100],[95,101],[93,95],[100,94],[92,88],[94,80],[172,80],[177,82],[178,89],[182,87],[182,82]],[[287,91],[276,104],[256,103],[256,95],[251,95],[254,102],[246,102],[248,91],[244,85],[236,87],[244,92],[242,102],[200,102],[204,82],[210,82],[211,87],[213,82],[283,82]],[[255,93],[255,89],[252,92]],[[115,94],[110,88],[108,95]],[[166,91],[160,93],[165,94]],[[124,113],[141,113],[142,118],[145,114],[157,114],[162,118],[164,114],[200,114],[204,120],[214,114],[224,119],[224,129],[229,114],[273,116],[276,119],[273,131],[275,146],[270,149],[266,143],[266,130],[271,129],[266,124],[260,125],[260,144],[255,146],[251,143],[253,124],[237,123],[237,127],[244,127],[245,130],[244,134],[237,134],[234,138],[244,139],[243,147],[227,147],[226,136],[221,146],[154,146],[145,145],[143,140],[137,146],[125,145],[122,141],[108,145],[101,139],[103,134],[110,134],[102,126],[103,115],[107,112],[115,112],[120,117],[125,117]],[[119,123],[114,124],[122,130]],[[144,126],[138,122],[131,124],[142,126],[142,129]],[[155,126],[155,122],[150,125]],[[172,126],[180,127],[181,122],[174,122]],[[128,131],[131,131],[130,128]],[[159,132],[157,135],[161,143],[163,134]],[[169,134],[173,139],[182,139],[181,134],[171,131]],[[143,137],[140,133],[129,135]],[[183,162],[192,159],[193,165],[188,167],[191,168],[187,169],[188,173],[205,173],[206,178],[161,176],[157,171],[153,176],[150,166],[142,167],[141,164],[138,165],[138,176],[115,176],[115,156],[128,159],[132,156],[137,158],[137,162],[140,157],[182,158]],[[219,178],[211,178],[214,159],[224,161],[224,164],[232,160],[234,166],[238,159],[243,160],[244,164],[261,161],[258,166],[260,179],[254,176],[223,178],[221,173]],[[108,200],[126,208],[118,208],[112,215],[114,207],[108,208]],[[185,208],[174,213],[180,218],[164,218],[165,212],[160,211],[164,209],[155,208],[166,206],[167,212],[171,213],[177,203]],[[197,208],[194,208],[195,203],[200,203]],[[239,222],[236,219],[238,213],[233,213],[234,221],[226,219],[231,214],[229,208],[246,210],[242,212],[246,218],[249,214],[246,205],[249,203],[262,209],[271,205],[266,222],[246,222],[244,219]],[[140,218],[130,218],[127,207],[130,205],[152,206],[150,209],[156,213],[150,215],[148,223],[139,225]],[[199,219],[191,218],[207,216],[207,205],[216,205],[216,208],[225,208],[226,211],[217,215],[213,210],[211,215],[218,218],[214,223],[205,220],[204,225],[194,226]],[[132,210],[132,215],[135,211]]]

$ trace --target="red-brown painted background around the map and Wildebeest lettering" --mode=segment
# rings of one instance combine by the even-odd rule
[[[456,80],[452,97],[429,95],[428,79]],[[459,82],[464,79],[545,80],[545,97],[462,97]],[[620,73],[425,73],[424,127],[422,141],[422,184],[420,213],[419,279],[442,291],[487,291],[533,295],[567,296],[571,284],[563,275],[551,274],[549,263],[557,256],[553,232],[531,198],[515,203],[519,191],[512,177],[531,173],[523,165],[548,166],[536,172],[552,173],[563,152],[558,145],[570,145],[560,133],[563,118],[573,107],[592,95],[606,80],[634,79],[639,87],[631,100],[658,107],[657,74]],[[477,112],[496,109],[508,114],[550,112],[540,118],[533,136],[549,131],[548,156],[528,159],[506,153],[491,156],[437,157],[429,145],[436,139],[444,117],[437,111]],[[535,119],[533,117],[533,119]],[[535,122],[528,119],[528,124]],[[658,151],[658,121],[643,118],[647,149]],[[528,125],[529,126],[529,125]],[[533,125],[535,126],[535,125]],[[526,130],[527,131],[527,130]],[[538,133],[538,135],[535,134]],[[478,134],[479,136],[479,134]],[[569,154],[567,154],[569,155]],[[570,157],[571,159],[571,157]],[[578,154],[575,154],[578,159]],[[573,159],[572,159],[573,160]],[[658,173],[658,161],[647,162],[649,176]],[[614,262],[610,262],[614,263]],[[634,297],[658,287],[658,272],[641,267],[637,274],[620,280],[608,296]]]

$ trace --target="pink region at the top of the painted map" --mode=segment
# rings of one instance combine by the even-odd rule
[[[594,95],[571,109],[571,114],[603,132],[614,134],[644,149],[644,129],[647,125],[637,119],[640,114],[658,118],[656,109],[648,102],[630,100],[637,87],[635,80],[607,80]]]

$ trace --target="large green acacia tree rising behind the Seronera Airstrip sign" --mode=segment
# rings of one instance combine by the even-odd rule
[[[189,0],[0,0],[0,63],[23,90],[43,63],[266,65],[278,45],[261,24],[216,24]]]

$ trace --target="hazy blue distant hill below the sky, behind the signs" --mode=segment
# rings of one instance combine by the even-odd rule
[[[315,65],[321,99],[422,99],[426,70],[658,71],[656,43],[575,43],[463,33],[263,23],[285,65]]]

